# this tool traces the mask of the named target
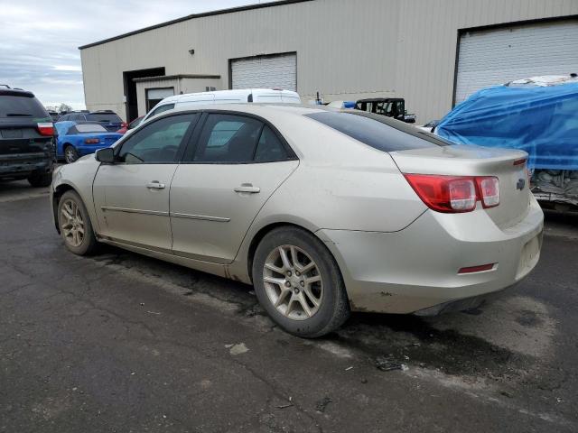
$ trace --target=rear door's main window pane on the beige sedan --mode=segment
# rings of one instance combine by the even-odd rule
[[[192,161],[250,162],[264,124],[243,115],[210,114]]]

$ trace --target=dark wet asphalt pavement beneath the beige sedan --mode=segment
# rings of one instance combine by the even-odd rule
[[[251,287],[103,247],[0,184],[1,432],[578,431],[578,215],[480,309],[285,334]]]

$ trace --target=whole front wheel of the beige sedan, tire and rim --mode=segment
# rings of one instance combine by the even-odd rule
[[[89,212],[75,191],[66,191],[58,203],[58,226],[66,247],[75,254],[89,255],[97,249],[97,238]]]

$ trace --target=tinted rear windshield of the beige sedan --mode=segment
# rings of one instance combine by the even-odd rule
[[[306,116],[383,152],[452,144],[436,135],[423,132],[385,115],[351,110],[327,111]]]

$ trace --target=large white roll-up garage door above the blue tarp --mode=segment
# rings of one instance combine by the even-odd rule
[[[578,73],[578,21],[465,32],[460,39],[456,104],[480,88],[519,78]]]

